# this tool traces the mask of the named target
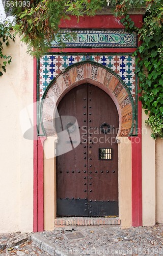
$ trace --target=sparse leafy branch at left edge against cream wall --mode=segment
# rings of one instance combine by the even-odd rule
[[[11,56],[4,53],[4,47],[9,46],[9,39],[14,40],[14,36],[10,32],[10,25],[7,22],[0,23],[0,76],[6,72],[7,64],[11,63]]]

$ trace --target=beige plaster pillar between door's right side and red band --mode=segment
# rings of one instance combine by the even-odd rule
[[[119,173],[119,218],[121,228],[131,226],[131,141],[128,137],[119,137],[118,173]]]

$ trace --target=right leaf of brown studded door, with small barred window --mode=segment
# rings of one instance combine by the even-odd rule
[[[88,172],[88,211],[90,216],[118,215],[118,112],[113,100],[101,89],[89,85],[90,95],[88,170],[92,173]]]

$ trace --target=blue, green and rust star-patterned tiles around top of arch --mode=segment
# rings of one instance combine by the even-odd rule
[[[110,68],[115,71],[121,79],[125,82],[126,86],[131,92],[131,95],[134,100],[135,96],[135,57],[129,55],[107,55],[107,54],[73,54],[73,55],[65,55],[65,54],[48,54],[44,55],[40,59],[40,73],[39,73],[39,97],[41,99],[45,89],[47,88],[50,81],[55,78],[58,74],[63,72],[65,68],[73,65],[74,63],[91,60],[96,63],[100,63],[102,66]],[[83,79],[83,71],[80,70],[78,66],[77,74],[78,78]],[[82,66],[81,66],[82,67]],[[92,75],[92,74],[91,74]],[[63,74],[64,80],[66,82],[66,86],[70,86],[71,80],[69,77],[69,73],[66,72]],[[107,87],[107,84],[110,83],[112,79],[112,74],[106,72],[104,83]],[[59,93],[59,89],[57,92]]]

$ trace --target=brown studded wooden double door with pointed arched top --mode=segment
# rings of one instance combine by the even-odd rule
[[[56,159],[57,216],[117,216],[119,117],[115,103],[98,87],[82,84],[63,97],[58,112],[65,119],[56,122],[57,150],[68,145],[72,150]],[[60,133],[64,130],[68,137]],[[80,135],[76,147],[75,134]]]

